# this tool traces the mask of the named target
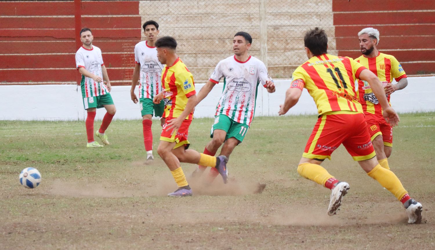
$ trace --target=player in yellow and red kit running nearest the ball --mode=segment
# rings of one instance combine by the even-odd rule
[[[224,182],[227,182],[227,157],[213,157],[188,149],[189,126],[193,119],[193,109],[197,104],[195,84],[191,72],[177,57],[177,42],[170,36],[157,40],[157,58],[166,64],[162,74],[163,92],[154,96],[153,102],[159,104],[164,100],[163,117],[165,123],[160,136],[157,153],[171,170],[178,189],[168,196],[189,196],[192,190],[186,181],[180,162],[210,166],[218,170]]]

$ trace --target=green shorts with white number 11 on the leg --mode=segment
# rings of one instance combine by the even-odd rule
[[[234,137],[241,143],[248,133],[248,129],[249,126],[247,124],[235,122],[234,120],[231,120],[230,117],[221,114],[214,119],[214,124],[211,126],[210,137],[213,138],[214,130],[224,130],[227,132],[225,140]]]

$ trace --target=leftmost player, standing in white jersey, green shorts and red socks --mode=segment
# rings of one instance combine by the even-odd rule
[[[97,46],[92,45],[94,36],[88,28],[80,30],[80,40],[83,45],[76,52],[76,66],[82,79],[80,88],[82,91],[84,109],[87,110],[86,118],[86,133],[87,133],[87,147],[97,148],[102,147],[94,140],[94,119],[97,114],[97,108],[104,107],[107,113],[104,115],[101,127],[96,131],[95,135],[101,141],[109,145],[107,135],[104,133],[109,127],[113,116],[116,113],[116,107],[110,96],[109,76],[107,75],[106,66],[104,66],[101,50]],[[103,82],[106,81],[106,84]]]

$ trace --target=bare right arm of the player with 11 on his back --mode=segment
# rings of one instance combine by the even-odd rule
[[[358,78],[363,81],[367,81],[368,84],[370,84],[371,90],[375,94],[376,98],[378,98],[379,104],[381,104],[382,116],[384,117],[385,121],[390,123],[393,127],[396,126],[400,121],[399,116],[396,111],[390,107],[390,104],[388,104],[384,87],[382,86],[381,81],[379,81],[379,78],[368,69],[363,69],[359,73]]]

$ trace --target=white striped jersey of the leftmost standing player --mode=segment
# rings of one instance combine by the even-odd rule
[[[103,71],[101,66],[104,65],[103,56],[101,55],[101,49],[97,46],[92,46],[92,49],[85,49],[83,46],[80,47],[76,52],[76,67],[85,68],[90,73],[99,76],[103,79]],[[82,91],[82,96],[84,97],[94,97],[99,95],[104,95],[109,93],[109,90],[103,81],[97,82],[94,79],[85,77],[82,75],[82,80],[80,82],[80,88]]]

